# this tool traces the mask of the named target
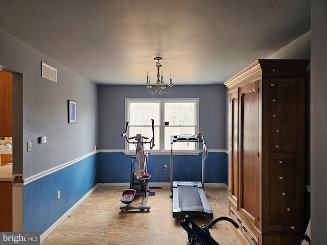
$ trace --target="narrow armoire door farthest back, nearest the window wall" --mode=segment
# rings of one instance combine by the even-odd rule
[[[228,163],[228,186],[229,200],[237,206],[239,192],[239,144],[238,144],[238,90],[229,93],[229,163]]]

